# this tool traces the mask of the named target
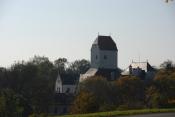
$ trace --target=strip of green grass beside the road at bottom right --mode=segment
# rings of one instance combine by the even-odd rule
[[[127,110],[127,111],[109,111],[109,112],[98,112],[98,113],[77,114],[77,115],[63,115],[63,116],[52,116],[52,117],[116,117],[116,116],[123,116],[123,115],[166,113],[166,112],[175,112],[175,108],[173,109],[142,109],[142,110]]]

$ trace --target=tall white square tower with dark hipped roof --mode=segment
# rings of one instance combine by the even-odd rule
[[[110,36],[98,36],[91,48],[91,67],[117,69],[118,49]]]

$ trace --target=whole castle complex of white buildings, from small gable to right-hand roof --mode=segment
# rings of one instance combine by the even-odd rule
[[[128,69],[121,73],[140,78],[152,78],[154,74],[154,69],[148,62],[132,62]],[[108,81],[116,80],[120,76],[118,49],[111,36],[98,35],[95,39],[91,47],[91,68],[85,74],[80,74],[79,81],[77,78],[58,73],[55,82],[55,102],[50,113],[66,114],[72,105],[78,83],[93,76],[102,76]]]

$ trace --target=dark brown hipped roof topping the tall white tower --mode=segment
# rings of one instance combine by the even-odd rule
[[[100,50],[117,50],[111,36],[98,36],[92,46],[98,46]]]

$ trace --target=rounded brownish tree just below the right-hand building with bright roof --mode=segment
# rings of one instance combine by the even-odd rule
[[[141,108],[144,102],[144,83],[135,76],[121,77],[116,81],[120,105]]]

